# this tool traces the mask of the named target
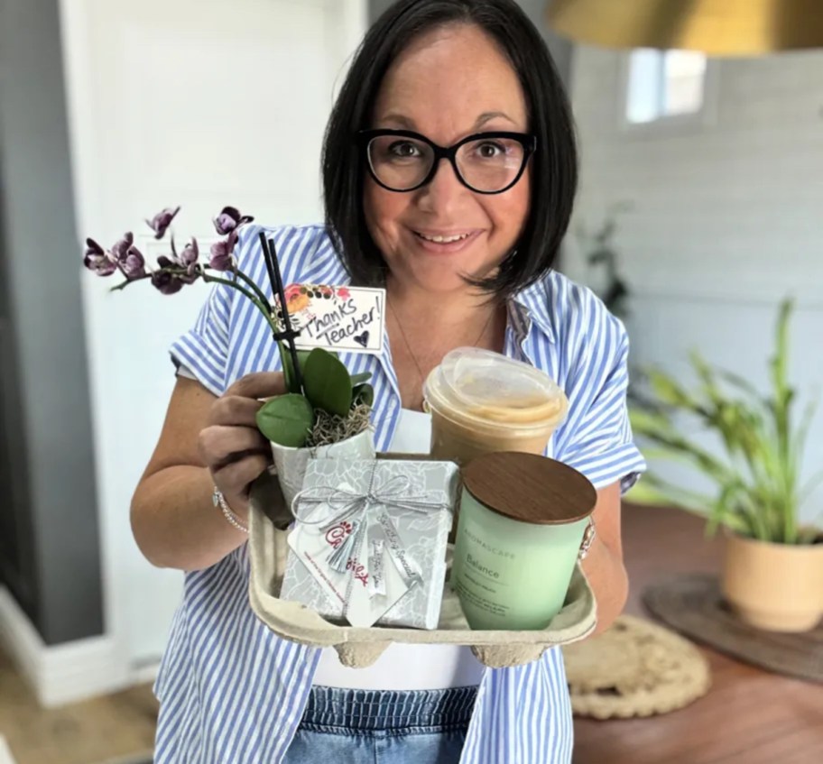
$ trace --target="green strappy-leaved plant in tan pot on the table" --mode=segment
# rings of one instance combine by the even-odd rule
[[[823,538],[819,529],[800,524],[800,508],[823,475],[800,484],[815,407],[809,404],[795,425],[787,371],[791,310],[791,300],[784,300],[768,395],[693,353],[697,387],[689,390],[659,369],[647,370],[651,395],[631,411],[634,432],[652,445],[649,456],[685,461],[716,487],[714,495],[700,495],[650,474],[633,489],[631,501],[706,515],[709,534],[726,529],[721,590],[743,621],[770,631],[809,631],[823,616]],[[673,417],[683,415],[719,436],[725,458],[682,432]]]

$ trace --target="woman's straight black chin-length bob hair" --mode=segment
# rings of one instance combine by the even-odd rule
[[[475,24],[501,47],[517,72],[537,136],[532,198],[522,235],[498,272],[479,286],[507,297],[550,271],[569,226],[578,154],[569,101],[540,32],[514,0],[399,0],[366,33],[326,129],[323,190],[326,226],[358,284],[381,284],[385,263],[365,224],[365,166],[356,135],[369,124],[386,71],[409,42],[452,23]]]

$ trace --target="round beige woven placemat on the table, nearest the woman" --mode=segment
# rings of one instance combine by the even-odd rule
[[[705,695],[706,658],[651,621],[620,616],[602,634],[563,648],[572,711],[596,719],[669,713]]]

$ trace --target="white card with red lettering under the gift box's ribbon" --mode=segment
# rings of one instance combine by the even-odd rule
[[[352,626],[374,625],[409,591],[388,558],[386,539],[373,528],[366,532],[349,520],[325,530],[319,525],[297,523],[288,543]],[[340,550],[347,554],[342,559],[338,555],[336,569],[332,561]]]

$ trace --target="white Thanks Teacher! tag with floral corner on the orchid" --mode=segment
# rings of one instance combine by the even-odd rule
[[[301,350],[322,347],[347,353],[383,352],[385,290],[290,284],[283,290],[294,344]],[[275,298],[277,323],[284,329],[280,299]]]

